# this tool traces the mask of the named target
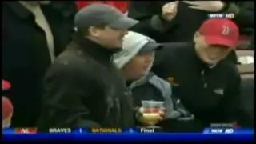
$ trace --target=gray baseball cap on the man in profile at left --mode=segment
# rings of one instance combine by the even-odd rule
[[[128,18],[114,6],[100,3],[90,4],[82,8],[74,17],[74,26],[78,31],[100,24],[106,24],[106,26],[118,30],[128,30],[137,23],[137,20]]]

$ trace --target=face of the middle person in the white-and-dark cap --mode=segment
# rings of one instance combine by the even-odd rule
[[[123,73],[126,76],[126,80],[136,80],[142,78],[152,66],[154,62],[154,52],[149,54],[138,54],[130,60],[122,68]]]

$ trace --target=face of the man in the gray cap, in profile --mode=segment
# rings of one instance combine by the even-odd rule
[[[126,34],[128,34],[128,30],[117,30],[106,26],[104,29],[96,30],[94,37],[97,38],[97,41],[103,46],[121,49],[123,38]]]

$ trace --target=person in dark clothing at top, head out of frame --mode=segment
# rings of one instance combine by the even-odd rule
[[[239,28],[254,28],[254,12],[246,10],[234,2],[221,1],[182,1],[178,3],[178,13],[171,21],[162,17],[163,7],[172,1],[131,1],[128,16],[140,22],[131,30],[145,34],[157,42],[187,42],[194,37],[194,32],[208,18],[210,13],[232,13],[234,22]],[[165,26],[165,31],[154,28],[152,25],[155,17]],[[159,26],[160,27],[160,26]]]

